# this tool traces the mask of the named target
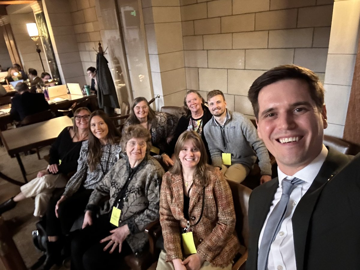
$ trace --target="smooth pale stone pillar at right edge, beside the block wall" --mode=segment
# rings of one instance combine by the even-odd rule
[[[360,1],[335,1],[325,73],[328,128],[342,138],[359,42]]]

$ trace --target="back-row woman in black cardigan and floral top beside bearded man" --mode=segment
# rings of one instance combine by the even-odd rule
[[[203,132],[203,127],[211,119],[212,114],[210,113],[209,108],[205,106],[204,99],[198,91],[189,90],[186,93],[184,98],[184,111],[184,115],[180,117],[179,122],[177,123],[169,154],[174,153],[176,141],[181,133],[185,130],[194,130],[203,140],[208,159],[210,160],[211,156]]]

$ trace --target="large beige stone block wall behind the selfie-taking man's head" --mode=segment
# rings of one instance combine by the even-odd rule
[[[267,69],[294,63],[323,80],[332,0],[180,3],[187,89],[219,89],[228,108],[252,116],[247,91]]]

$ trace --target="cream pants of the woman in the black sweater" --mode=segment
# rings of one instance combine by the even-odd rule
[[[68,179],[63,174],[46,174],[20,187],[26,198],[35,197],[34,216],[44,215],[54,189],[63,188],[67,181]]]

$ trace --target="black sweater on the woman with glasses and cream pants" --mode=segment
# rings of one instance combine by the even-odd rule
[[[72,127],[66,127],[60,132],[49,151],[49,163],[50,165],[58,165],[58,174],[68,174],[77,169],[77,160],[80,156],[82,141],[74,143],[69,134],[70,129],[72,129]],[[60,165],[59,159],[61,159]]]

